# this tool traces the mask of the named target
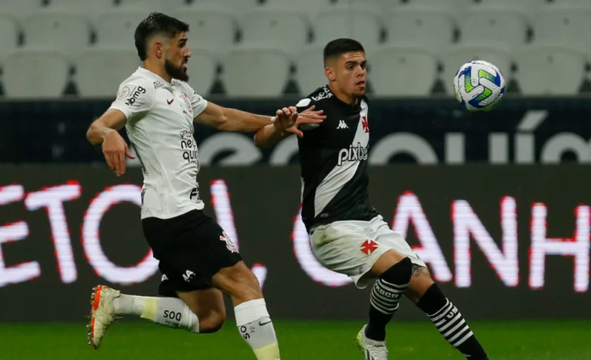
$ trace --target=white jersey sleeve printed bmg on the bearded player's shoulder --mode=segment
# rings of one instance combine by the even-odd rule
[[[144,79],[132,79],[119,86],[117,98],[110,109],[117,109],[125,114],[127,121],[148,112],[154,101],[154,86]]]

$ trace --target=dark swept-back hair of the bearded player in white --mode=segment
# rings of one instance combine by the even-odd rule
[[[152,12],[135,28],[135,49],[138,50],[139,59],[144,61],[148,57],[148,38],[157,34],[173,38],[178,33],[187,32],[189,32],[189,24],[186,22],[160,12]]]

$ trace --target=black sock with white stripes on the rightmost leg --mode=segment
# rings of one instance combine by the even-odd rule
[[[437,327],[437,330],[454,348],[467,359],[486,360],[486,352],[470,330],[464,317],[443,293],[437,284],[431,285],[418,301],[417,307],[423,310]]]

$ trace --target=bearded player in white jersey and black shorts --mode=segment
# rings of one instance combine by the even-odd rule
[[[121,83],[111,107],[87,131],[119,176],[125,157],[134,157],[118,133],[125,126],[144,175],[142,229],[163,274],[158,291],[163,297],[121,294],[102,285],[93,289],[89,343],[98,349],[113,319],[123,315],[193,333],[216,332],[226,318],[223,292],[232,299],[239,332],[256,358],[278,360],[275,330],[255,275],[202,211],[193,122],[224,131],[257,131],[272,124],[280,133],[301,136],[299,124],[320,123],[323,116],[284,108],[268,117],[206,101],[186,83],[188,31],[184,22],[160,13],[142,21],[135,46],[144,65]]]

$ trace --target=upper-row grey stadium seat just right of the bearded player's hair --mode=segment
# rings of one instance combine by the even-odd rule
[[[187,36],[191,50],[196,46],[221,54],[227,52],[236,41],[236,19],[222,9],[191,8],[171,15],[189,24],[190,31]],[[195,54],[194,51],[192,53]]]

